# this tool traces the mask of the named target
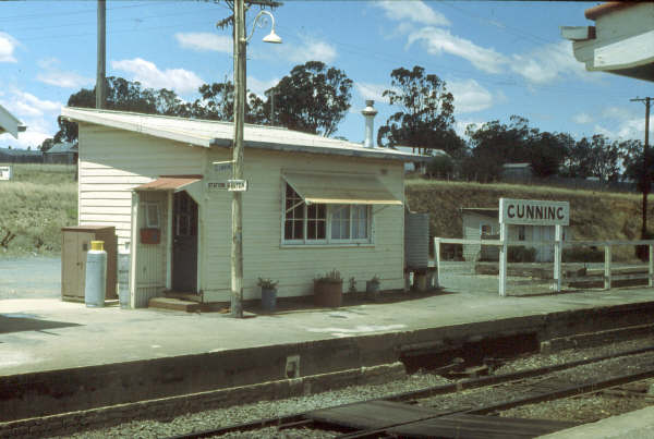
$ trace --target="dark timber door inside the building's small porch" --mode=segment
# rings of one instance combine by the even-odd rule
[[[197,293],[197,204],[178,192],[172,215],[172,290]]]

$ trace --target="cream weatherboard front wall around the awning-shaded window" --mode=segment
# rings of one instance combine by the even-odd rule
[[[209,161],[225,160],[223,149],[214,149]],[[403,286],[402,206],[373,207],[372,245],[284,246],[282,228],[282,170],[374,173],[399,199],[403,195],[401,162],[364,160],[338,156],[283,154],[265,150],[245,151],[245,178],[249,192],[243,196],[244,296],[258,298],[257,278],[279,281],[279,296],[313,294],[313,279],[337,269],[347,281],[354,277],[358,288],[377,275],[383,289]],[[383,174],[386,170],[386,174]],[[335,180],[338,184],[338,179]],[[228,301],[230,294],[231,196],[208,195],[205,229],[213,237],[206,248],[205,297]]]

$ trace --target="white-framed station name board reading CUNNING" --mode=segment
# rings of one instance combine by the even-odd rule
[[[569,225],[570,203],[499,198],[499,222],[505,224]]]

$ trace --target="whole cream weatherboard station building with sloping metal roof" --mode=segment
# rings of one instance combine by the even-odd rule
[[[114,225],[130,243],[131,303],[165,291],[229,302],[233,125],[63,108],[80,125],[80,225]],[[366,130],[367,131],[367,130]],[[244,298],[257,279],[279,296],[313,279],[380,277],[404,285],[405,161],[424,158],[280,127],[245,126]]]

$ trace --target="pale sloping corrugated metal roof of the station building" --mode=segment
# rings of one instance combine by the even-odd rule
[[[64,107],[61,115],[76,122],[94,123],[168,138],[190,145],[231,147],[233,123],[165,115]],[[361,144],[301,133],[277,126],[244,127],[245,147],[292,153],[341,155],[400,161],[424,161],[429,157],[388,148],[364,148]]]

